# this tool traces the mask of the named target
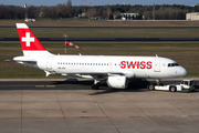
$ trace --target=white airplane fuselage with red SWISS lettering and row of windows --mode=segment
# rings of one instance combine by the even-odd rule
[[[38,69],[56,74],[123,74],[138,79],[168,79],[184,76],[187,71],[174,60],[158,57],[112,55],[50,55],[34,57]],[[177,63],[176,63],[177,64]]]

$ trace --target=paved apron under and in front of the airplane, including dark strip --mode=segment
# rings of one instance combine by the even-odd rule
[[[178,81],[164,81],[174,83]],[[93,81],[0,81],[2,133],[198,133],[199,91],[91,90]]]

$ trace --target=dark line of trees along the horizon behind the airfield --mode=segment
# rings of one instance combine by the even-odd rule
[[[59,3],[54,7],[48,6],[29,6],[28,8],[18,6],[0,4],[0,19],[24,19],[25,13],[28,18],[74,18],[85,12],[87,18],[108,18],[121,19],[121,13],[138,13],[139,16],[133,19],[151,20],[154,17],[154,6],[130,6],[130,4],[115,4],[115,6],[72,6],[72,1],[66,3]],[[163,4],[155,6],[156,20],[185,20],[186,13],[198,12],[199,6],[189,7],[182,4]],[[144,18],[143,18],[144,17]]]

